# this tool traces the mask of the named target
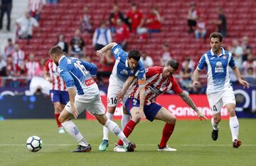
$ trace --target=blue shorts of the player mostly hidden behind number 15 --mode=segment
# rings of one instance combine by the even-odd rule
[[[69,101],[68,92],[67,91],[57,91],[50,90],[50,100],[55,102],[60,102],[60,104],[67,104]]]

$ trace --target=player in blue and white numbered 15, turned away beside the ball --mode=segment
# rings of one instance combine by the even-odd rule
[[[124,142],[127,151],[134,151],[136,145],[125,137],[117,123],[110,121],[105,115],[105,108],[100,99],[100,91],[94,79],[92,79],[96,76],[97,67],[75,57],[66,57],[63,55],[60,46],[50,48],[49,55],[55,65],[58,66],[58,73],[64,79],[68,89],[70,101],[61,112],[59,121],[65,131],[79,143],[78,148],[73,152],[88,152],[92,149],[72,121],[73,118],[78,118],[78,115],[85,109],[114,135],[117,135]]]

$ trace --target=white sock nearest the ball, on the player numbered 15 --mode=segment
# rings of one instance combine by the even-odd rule
[[[78,141],[79,145],[82,145],[82,146],[88,145],[87,141],[82,136],[82,134],[78,130],[78,127],[75,126],[75,123],[73,123],[73,121],[71,121],[71,120],[65,121],[65,122],[61,123],[61,125],[63,126],[63,128],[65,128],[65,131],[67,131],[69,133],[69,135],[73,136],[73,138],[75,138],[75,140]]]

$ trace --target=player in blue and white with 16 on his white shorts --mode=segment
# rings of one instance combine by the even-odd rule
[[[122,91],[124,82],[129,76],[136,76],[139,84],[139,93],[142,94],[140,97],[141,105],[139,106],[139,114],[144,116],[143,105],[144,105],[144,86],[145,86],[145,69],[140,60],[141,54],[138,50],[131,50],[129,53],[122,50],[121,45],[117,43],[110,43],[101,50],[97,50],[96,55],[102,57],[107,53],[107,50],[112,50],[112,54],[115,58],[114,68],[110,75],[110,84],[107,89],[107,118],[113,120],[114,111],[118,104],[119,99],[117,96]],[[126,99],[132,91],[133,82],[129,82],[129,89],[124,92],[124,99],[122,105],[124,106]],[[126,109],[123,108],[124,114],[122,116],[122,128],[127,124],[130,119]],[[99,146],[99,150],[105,151],[109,145],[108,143],[109,130],[105,126],[103,127],[103,140]]]

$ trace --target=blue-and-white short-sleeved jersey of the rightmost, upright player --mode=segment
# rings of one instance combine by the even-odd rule
[[[223,91],[230,85],[228,66],[234,68],[235,61],[232,54],[223,48],[221,48],[219,56],[214,55],[213,50],[203,54],[197,68],[203,70],[206,67],[208,75],[207,94]]]

